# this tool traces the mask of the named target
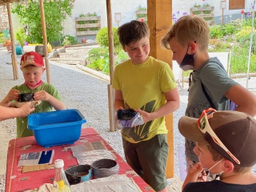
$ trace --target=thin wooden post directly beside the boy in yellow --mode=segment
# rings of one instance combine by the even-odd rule
[[[108,98],[109,98],[109,118],[110,118],[110,131],[114,131],[114,91],[112,88],[112,78],[114,74],[114,37],[112,30],[112,10],[111,0],[106,0],[106,14],[107,14],[107,29],[109,38],[109,58],[110,58],[110,85],[108,85]]]

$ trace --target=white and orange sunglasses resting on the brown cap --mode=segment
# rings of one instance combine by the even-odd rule
[[[210,124],[208,122],[209,118],[213,118],[214,112],[217,110],[214,110],[212,108],[209,108],[207,110],[203,110],[200,118],[198,118],[198,128],[201,130],[203,134],[210,134],[211,138],[213,138],[214,142],[222,147],[223,150],[226,151],[227,154],[230,155],[230,158],[233,158],[234,162],[238,163],[240,165],[240,161],[234,157],[234,155],[226,148],[226,146],[222,143],[222,141],[218,138],[218,136],[214,133],[214,130],[210,127]]]

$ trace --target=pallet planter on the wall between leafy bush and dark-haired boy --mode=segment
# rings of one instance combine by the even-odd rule
[[[81,17],[75,19],[75,28],[77,36],[98,34],[101,29],[101,17]]]

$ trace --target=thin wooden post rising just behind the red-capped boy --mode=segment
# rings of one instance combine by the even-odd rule
[[[41,20],[42,20],[42,38],[43,38],[43,48],[45,54],[45,64],[46,64],[46,79],[50,83],[50,67],[49,67],[49,58],[48,58],[48,46],[47,46],[47,35],[46,35],[46,19],[45,11],[43,9],[43,0],[40,0],[40,11],[41,11]]]

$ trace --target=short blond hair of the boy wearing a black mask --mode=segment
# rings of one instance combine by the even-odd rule
[[[162,46],[170,50],[170,39],[175,38],[182,46],[190,42],[198,43],[200,50],[208,50],[210,28],[203,18],[186,15],[178,19],[162,38]]]

